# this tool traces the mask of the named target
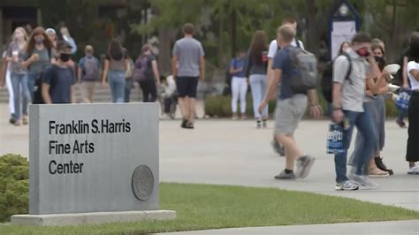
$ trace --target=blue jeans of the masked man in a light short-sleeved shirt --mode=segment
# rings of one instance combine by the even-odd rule
[[[356,174],[362,175],[365,165],[369,158],[374,154],[375,146],[377,144],[377,133],[374,130],[374,120],[369,112],[354,112],[344,110],[345,117],[349,121],[349,128],[343,132],[343,146],[345,152],[335,155],[335,171],[336,182],[341,183],[348,180],[347,178],[347,149],[352,140],[352,133],[354,133],[354,126],[359,133],[362,134],[364,142],[360,146],[359,155],[356,159]]]

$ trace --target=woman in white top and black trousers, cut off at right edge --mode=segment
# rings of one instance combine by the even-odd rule
[[[410,38],[410,59],[408,62],[408,79],[412,95],[408,106],[408,149],[406,160],[409,163],[409,175],[419,175],[415,165],[419,161],[419,32]]]

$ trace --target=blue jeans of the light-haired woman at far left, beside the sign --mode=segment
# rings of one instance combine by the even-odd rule
[[[14,115],[20,119],[20,92],[22,94],[22,113],[27,115],[29,90],[27,89],[27,74],[11,73],[11,86],[13,87]],[[21,88],[21,90],[20,90]]]

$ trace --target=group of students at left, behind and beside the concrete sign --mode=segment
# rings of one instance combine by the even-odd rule
[[[85,57],[78,63],[72,60],[76,51],[77,44],[66,27],[60,28],[59,37],[53,28],[36,27],[31,32],[24,27],[14,29],[3,54],[0,79],[0,85],[7,85],[9,91],[12,125],[28,124],[29,102],[76,102],[76,84],[80,85],[82,102],[93,102],[98,81],[102,81],[103,87],[110,87],[112,102],[129,102],[133,83],[138,82],[143,102],[156,102],[157,97],[162,97],[164,110],[172,116],[171,106],[177,102],[176,85],[172,76],[160,76],[151,46],[143,45],[133,61],[114,39],[103,65],[95,57],[92,45],[86,45]],[[162,94],[157,94],[157,90],[162,90]]]

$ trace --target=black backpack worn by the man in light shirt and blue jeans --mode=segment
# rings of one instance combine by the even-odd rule
[[[349,68],[347,70],[347,75],[345,76],[345,80],[349,80],[349,75],[352,72],[352,59],[349,57],[347,53],[343,53],[342,56],[347,57],[347,60],[349,61]],[[324,100],[327,102],[332,102],[332,88],[333,88],[333,62],[330,62],[327,64],[326,70],[324,70],[323,79],[320,84],[322,87],[322,94],[324,96]],[[351,83],[352,81],[349,80]]]

